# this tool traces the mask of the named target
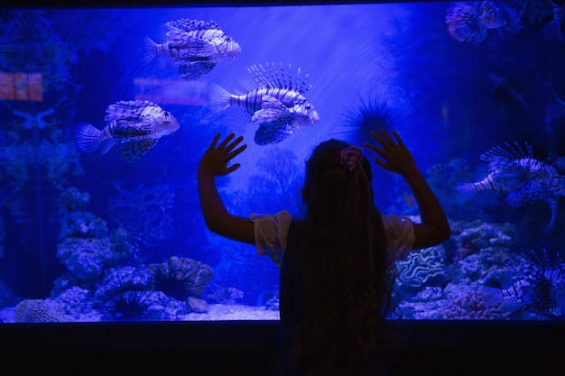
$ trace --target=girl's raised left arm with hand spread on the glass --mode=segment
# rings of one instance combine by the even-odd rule
[[[227,167],[227,163],[245,151],[247,145],[237,147],[243,137],[239,136],[232,141],[235,134],[231,133],[216,146],[219,137],[219,134],[214,137],[199,162],[199,201],[204,221],[213,233],[239,242],[255,244],[253,222],[245,217],[229,214],[216,187],[216,177],[227,175],[240,167],[239,163]]]

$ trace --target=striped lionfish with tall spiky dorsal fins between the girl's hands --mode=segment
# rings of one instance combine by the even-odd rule
[[[218,85],[210,86],[212,111],[219,112],[229,106],[245,109],[251,121],[259,124],[255,132],[258,145],[282,142],[297,133],[299,126],[318,123],[320,116],[303,96],[310,86],[306,85],[308,75],[301,80],[300,68],[294,80],[292,72],[285,73],[282,64],[280,71],[274,63],[267,63],[265,67],[254,65],[248,70],[255,74],[255,84],[243,95],[231,94]]]

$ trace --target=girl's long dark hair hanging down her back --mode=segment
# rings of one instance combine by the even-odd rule
[[[388,242],[370,162],[363,157],[349,170],[340,159],[349,146],[322,142],[306,163],[297,357],[308,374],[364,375],[384,350],[394,282]]]

